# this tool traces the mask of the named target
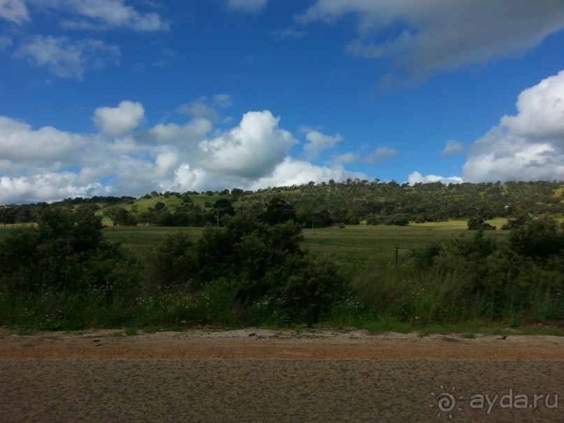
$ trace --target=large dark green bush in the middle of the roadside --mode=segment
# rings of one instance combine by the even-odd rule
[[[223,306],[229,299],[227,308],[240,318],[268,310],[275,320],[317,322],[347,284],[333,262],[308,257],[302,240],[298,224],[238,213],[222,228],[206,227],[196,243],[182,233],[166,238],[149,260],[149,274],[159,285],[198,287]]]

